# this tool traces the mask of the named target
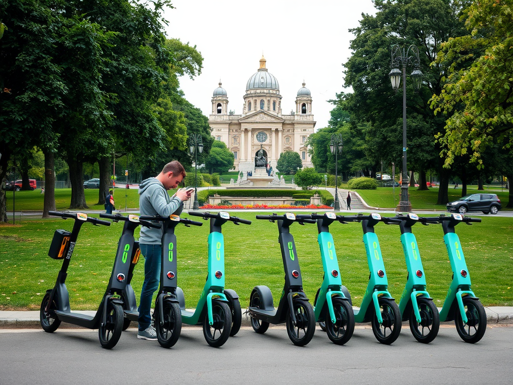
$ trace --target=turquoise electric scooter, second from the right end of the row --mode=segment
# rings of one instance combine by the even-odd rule
[[[424,218],[417,214],[399,214],[393,218],[382,218],[386,224],[398,224],[401,228],[401,243],[408,275],[401,300],[399,311],[402,320],[409,321],[411,334],[419,342],[429,343],[438,334],[440,317],[437,306],[426,290],[426,277],[419,253],[419,246],[411,226],[417,222],[428,224]]]

